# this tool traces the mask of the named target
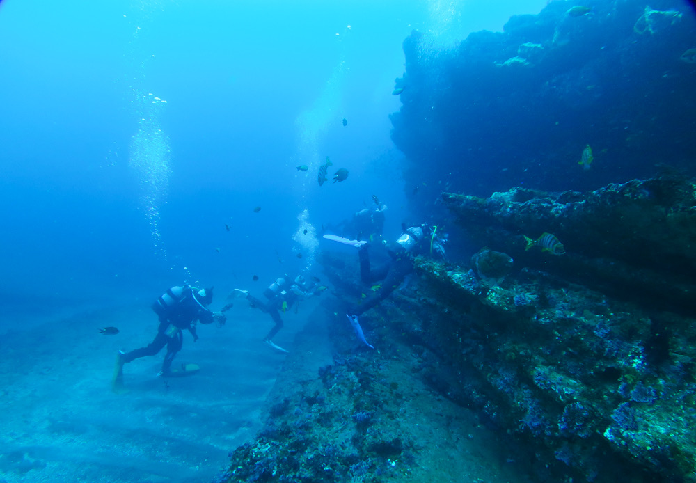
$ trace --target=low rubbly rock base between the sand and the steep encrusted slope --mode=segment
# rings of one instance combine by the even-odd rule
[[[326,302],[287,356],[264,429],[230,453],[216,483],[525,481],[512,460],[532,455],[461,404],[456,371],[401,303],[362,317],[369,349]]]

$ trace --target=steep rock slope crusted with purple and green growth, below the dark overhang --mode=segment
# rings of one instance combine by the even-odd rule
[[[523,269],[418,262],[420,333],[460,404],[535,452],[537,481],[696,481],[693,319]]]

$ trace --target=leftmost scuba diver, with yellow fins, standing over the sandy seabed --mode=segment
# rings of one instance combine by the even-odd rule
[[[181,350],[184,338],[182,331],[187,330],[193,335],[193,342],[198,340],[196,321],[201,324],[212,324],[217,321],[220,326],[226,322],[222,312],[212,312],[207,306],[213,300],[213,287],[198,289],[184,284],[183,287],[171,287],[152,304],[152,310],[159,316],[159,328],[155,339],[146,347],[130,352],[119,351],[116,356],[114,386],[122,383],[123,365],[144,356],[154,356],[162,347],[167,346],[167,352],[158,376],[171,376],[171,364],[177,352]],[[225,310],[225,309],[223,309]]]

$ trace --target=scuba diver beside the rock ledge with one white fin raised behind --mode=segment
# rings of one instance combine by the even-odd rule
[[[384,244],[389,256],[386,262],[377,267],[373,267],[370,262],[370,243],[325,236],[336,242],[358,247],[361,281],[365,285],[376,284],[372,286],[372,294],[366,296],[359,305],[349,306],[350,315],[361,315],[386,299],[402,284],[406,276],[411,274],[413,257],[416,255],[436,254],[445,259],[444,245],[447,242],[447,235],[440,237],[437,234],[437,227],[430,227],[423,223],[410,228],[402,225],[402,230],[402,235],[395,242]]]

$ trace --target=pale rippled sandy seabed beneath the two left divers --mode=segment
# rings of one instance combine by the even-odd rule
[[[118,349],[147,345],[157,316],[138,306],[75,306],[3,323],[0,338],[0,482],[207,482],[252,438],[285,356],[262,344],[270,317],[237,304],[228,323],[184,333],[173,367],[166,349],[125,365],[127,393],[111,390]],[[292,350],[304,314],[288,314],[276,343]],[[117,335],[99,329],[115,326]]]

